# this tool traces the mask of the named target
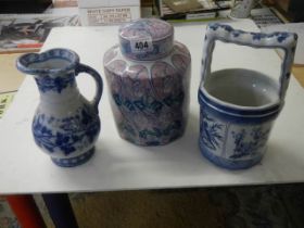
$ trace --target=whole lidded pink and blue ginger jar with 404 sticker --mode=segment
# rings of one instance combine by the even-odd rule
[[[173,40],[173,27],[161,20],[125,25],[119,39],[103,59],[119,136],[139,145],[181,137],[189,106],[188,49]]]

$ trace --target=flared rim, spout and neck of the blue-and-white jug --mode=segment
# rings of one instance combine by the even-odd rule
[[[22,55],[16,62],[16,67],[25,74],[34,75],[41,99],[62,93],[66,93],[64,98],[67,98],[78,92],[75,83],[78,64],[79,56],[74,51],[52,49]]]

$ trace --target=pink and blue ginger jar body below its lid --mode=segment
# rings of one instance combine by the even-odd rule
[[[155,61],[128,59],[119,46],[105,53],[104,71],[122,138],[139,145],[160,145],[182,136],[190,61],[188,49],[179,42],[174,42],[168,55]]]

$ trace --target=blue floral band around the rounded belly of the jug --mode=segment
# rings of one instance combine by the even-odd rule
[[[87,110],[89,109],[81,109],[75,116],[65,118],[35,115],[33,132],[36,143],[50,153],[61,151],[64,155],[88,147],[100,130],[100,121],[94,117],[94,113],[88,113]],[[54,132],[51,125],[59,126],[61,130]]]

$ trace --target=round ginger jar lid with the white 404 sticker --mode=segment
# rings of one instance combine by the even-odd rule
[[[132,60],[161,59],[172,51],[173,43],[173,26],[159,18],[140,18],[119,27],[121,51]]]

